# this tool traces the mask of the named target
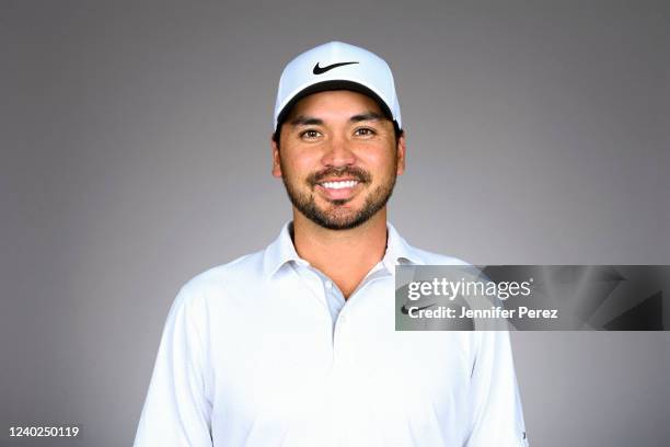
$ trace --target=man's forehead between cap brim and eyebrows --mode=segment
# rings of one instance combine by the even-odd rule
[[[382,111],[373,99],[365,94],[349,90],[328,90],[312,93],[298,101],[291,108],[287,121],[304,115],[319,117],[321,119],[346,118],[367,112],[382,114]]]

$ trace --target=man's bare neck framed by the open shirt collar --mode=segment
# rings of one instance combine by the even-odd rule
[[[293,245],[303,260],[330,277],[345,298],[386,251],[386,208],[349,230],[328,230],[293,209]]]

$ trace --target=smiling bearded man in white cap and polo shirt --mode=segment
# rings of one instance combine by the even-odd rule
[[[527,445],[506,332],[394,330],[395,265],[462,262],[386,222],[406,150],[386,62],[293,59],[272,150],[293,219],[180,290],[135,446]]]

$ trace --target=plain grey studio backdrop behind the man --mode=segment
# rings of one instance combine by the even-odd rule
[[[0,1],[0,439],[77,423],[77,443],[15,444],[131,443],[177,288],[290,218],[275,88],[326,41],[394,70],[411,243],[670,264],[667,4]],[[669,341],[512,334],[532,444],[668,445]]]

